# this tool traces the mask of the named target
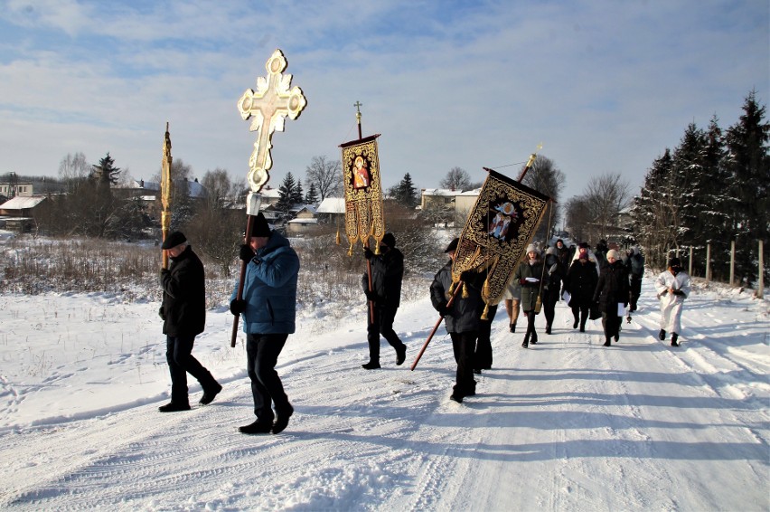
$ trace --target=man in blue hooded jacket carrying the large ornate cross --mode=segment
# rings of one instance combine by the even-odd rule
[[[239,427],[239,431],[277,434],[286,429],[294,412],[276,364],[286,338],[295,332],[299,258],[286,237],[270,230],[262,213],[254,219],[249,243],[240,247],[239,258],[246,263],[246,277],[242,299],[236,299],[238,283],[233,289],[230,312],[243,320],[247,370],[257,415],[257,421]]]

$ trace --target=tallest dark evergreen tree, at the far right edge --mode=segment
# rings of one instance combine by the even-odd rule
[[[768,187],[770,187],[770,124],[765,122],[765,106],[752,90],[743,105],[744,113],[728,128],[725,143],[726,167],[737,199],[731,210],[736,237],[736,276],[752,284],[757,277],[757,242],[768,239]]]

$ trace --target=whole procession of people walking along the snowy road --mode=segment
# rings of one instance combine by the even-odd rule
[[[270,228],[262,213],[249,224],[251,231],[240,246],[239,260],[244,266],[243,283],[235,283],[230,296],[230,312],[242,319],[246,340],[246,365],[255,419],[239,427],[245,434],[277,434],[284,431],[294,407],[277,374],[276,365],[289,335],[296,331],[296,288],[300,261],[289,240]],[[455,384],[449,395],[463,403],[476,394],[475,375],[492,369],[492,325],[497,304],[483,297],[486,270],[465,270],[459,282],[453,277],[459,238],[444,252],[448,260],[437,271],[429,286],[429,296],[446,333],[452,340],[455,356]],[[615,243],[605,240],[592,251],[587,242],[567,247],[562,239],[544,248],[531,243],[508,280],[499,299],[507,313],[508,331],[516,335],[521,313],[526,318],[521,346],[530,348],[540,342],[537,318],[544,311],[544,332],[556,328],[555,312],[563,301],[572,313],[572,328],[586,332],[589,319],[601,318],[604,346],[618,342],[624,312],[639,308],[644,257],[633,246],[624,257]],[[201,384],[202,405],[214,401],[222,386],[192,356],[194,338],[201,334],[205,319],[204,270],[200,259],[182,232],[171,233],[163,244],[170,256],[169,269],[161,271],[164,300],[159,314],[167,337],[167,362],[171,375],[171,401],[161,412],[190,410],[186,374]],[[396,247],[396,236],[387,232],[377,250],[363,249],[367,271],[362,276],[363,296],[367,304],[366,338],[368,361],[365,370],[377,370],[380,364],[380,337],[395,351],[395,365],[406,360],[407,345],[394,328],[401,300],[404,255]],[[459,293],[462,287],[462,293]],[[654,280],[661,304],[661,340],[670,337],[671,346],[680,345],[681,311],[690,296],[690,276],[678,258],[671,258],[668,268]],[[438,325],[438,324],[437,324]],[[234,335],[233,335],[234,336]],[[423,350],[425,347],[423,347]],[[421,355],[421,353],[420,353]]]

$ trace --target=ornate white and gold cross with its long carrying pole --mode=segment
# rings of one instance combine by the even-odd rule
[[[288,62],[284,53],[276,50],[270,55],[265,69],[268,77],[257,77],[257,90],[247,89],[238,100],[240,117],[244,120],[253,118],[249,130],[257,131],[257,140],[254,141],[254,150],[249,157],[249,196],[246,200],[246,232],[244,243],[249,243],[251,238],[251,226],[254,217],[259,213],[261,204],[262,187],[268,183],[270,175],[268,171],[273,166],[270,156],[270,148],[273,147],[272,138],[275,131],[284,131],[286,118],[297,119],[307,106],[305,94],[299,87],[291,86],[292,76],[283,74]],[[246,261],[240,265],[240,279],[236,299],[243,298],[243,280],[246,278]],[[232,337],[230,346],[235,346],[235,338],[238,336],[238,320],[236,315],[232,323]]]

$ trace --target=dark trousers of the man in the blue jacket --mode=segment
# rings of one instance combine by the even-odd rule
[[[259,422],[273,422],[275,417],[271,403],[278,414],[291,410],[284,384],[276,372],[288,334],[247,334],[246,365],[254,396],[254,414]]]

